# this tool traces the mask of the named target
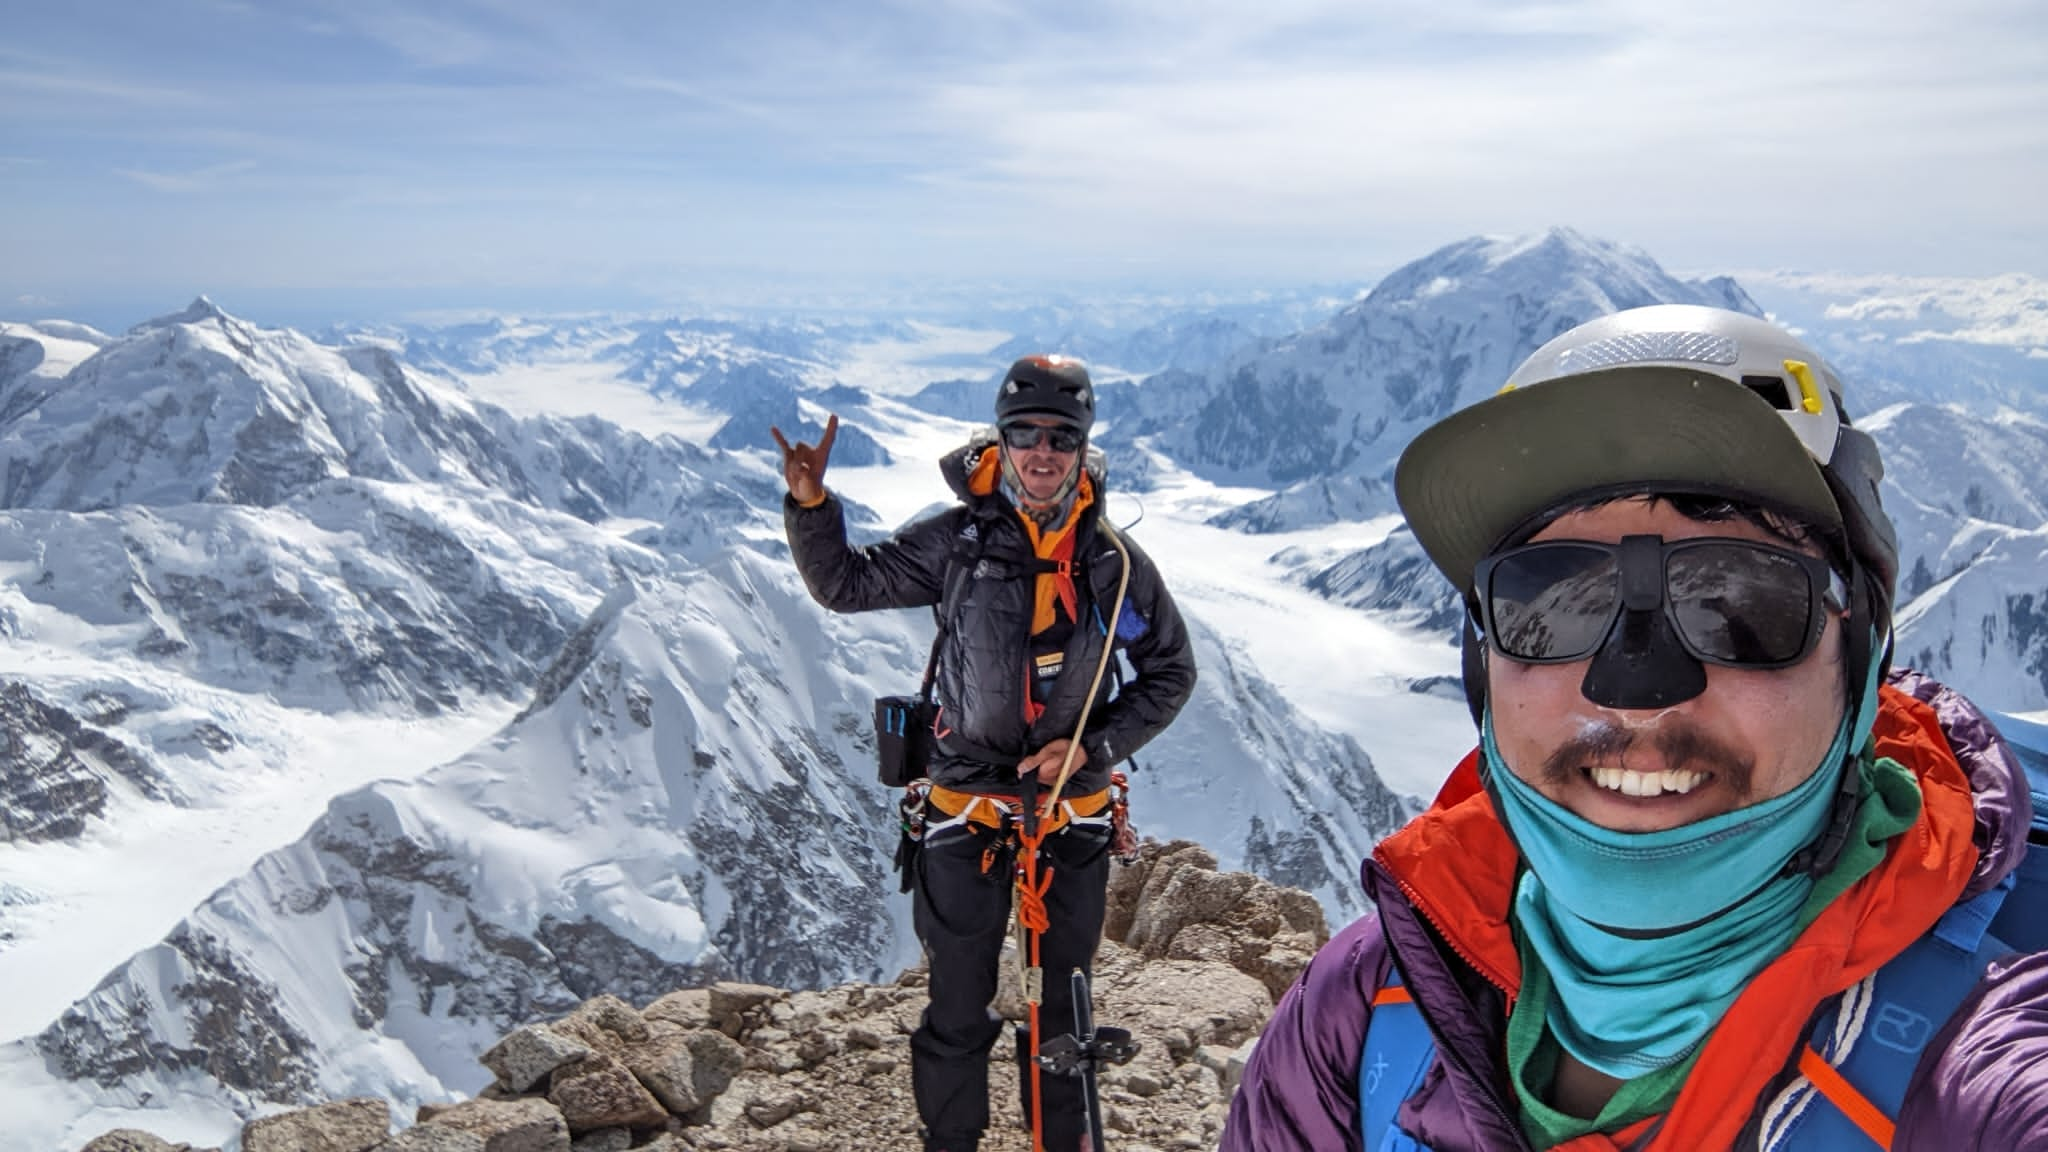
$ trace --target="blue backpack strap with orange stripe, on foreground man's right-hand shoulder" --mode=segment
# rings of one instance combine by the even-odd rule
[[[1843,992],[1808,1035],[1819,1058],[1882,1113],[1880,1127],[1898,1119],[1907,1080],[1927,1041],[1956,1015],[1985,968],[2013,951],[1989,931],[2001,920],[2013,883],[2007,875],[1991,892],[1950,908],[1913,947]],[[2034,908],[2034,914],[2048,914],[2048,908]],[[1763,1152],[1872,1146],[1882,1144],[1808,1078],[1788,1084],[1763,1115]]]

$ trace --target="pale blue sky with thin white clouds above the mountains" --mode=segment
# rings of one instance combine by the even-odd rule
[[[2048,273],[2040,0],[0,6],[0,316]]]

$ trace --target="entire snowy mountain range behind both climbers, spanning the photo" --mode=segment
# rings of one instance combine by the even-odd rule
[[[825,412],[852,416],[834,461],[885,463],[858,426],[887,433],[905,402],[979,420],[1010,355],[1071,338],[1118,357],[1112,488],[1249,486],[1268,496],[1214,523],[1296,533],[1389,515],[1415,430],[1556,332],[1661,301],[1761,312],[1724,277],[1552,230],[1452,244],[1327,307],[1049,312],[891,396],[844,369],[864,340],[918,334],[899,322],[315,340],[199,299],[123,336],[0,324],[0,635],[25,654],[0,674],[0,847],[150,867],[119,857],[115,814],[231,793],[250,748],[289,746],[272,728],[291,709],[520,709],[449,765],[332,797],[0,1045],[0,1142],[80,1144],[82,1117],[141,1107],[205,1134],[315,1097],[418,1105],[481,1088],[475,1043],[600,992],[893,976],[915,941],[887,896],[868,705],[915,683],[930,623],[809,601],[768,422],[815,437]],[[1898,658],[2003,711],[2048,707],[2048,424],[2034,377],[2001,369],[2025,351],[1886,346],[1860,340],[1849,404],[1890,467]],[[1948,367],[1921,373],[1929,357]],[[725,428],[690,443],[516,416],[461,385],[528,363],[604,365]],[[1888,381],[1872,404],[1855,373]],[[889,527],[856,521],[862,539]],[[1450,640],[1458,605],[1407,531],[1274,549],[1307,588]],[[1143,756],[1139,822],[1348,918],[1358,859],[1413,797],[1303,715],[1229,623],[1192,613],[1202,681]],[[1442,676],[1413,689],[1456,695]],[[0,951],[37,947],[20,912],[39,900],[0,886]]]

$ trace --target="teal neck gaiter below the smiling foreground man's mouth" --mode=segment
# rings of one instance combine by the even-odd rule
[[[1792,791],[1661,832],[1583,820],[1516,777],[1481,726],[1491,791],[1528,861],[1516,924],[1550,974],[1548,1023],[1583,1064],[1632,1080],[1683,1060],[1800,931],[1812,875],[1786,863],[1827,824],[1876,689]]]

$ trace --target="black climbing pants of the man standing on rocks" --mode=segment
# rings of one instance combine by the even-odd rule
[[[983,873],[983,853],[991,845],[995,859]],[[1108,847],[1108,830],[1094,826],[1067,826],[1044,838],[1038,867],[1040,875],[1053,869],[1053,888],[1044,894],[1051,927],[1038,941],[1044,968],[1040,1043],[1073,1031],[1071,978],[1075,968],[1092,972],[1102,941]],[[989,1050],[1004,1033],[989,1002],[1010,931],[1012,855],[997,832],[967,824],[922,845],[911,867],[911,912],[932,965],[932,1002],[909,1037],[911,1091],[932,1148],[973,1148],[989,1125]],[[999,1058],[1012,1054],[1006,1043]],[[1087,1132],[1081,1082],[1040,1072],[1040,1091],[1047,1152],[1075,1152]]]

